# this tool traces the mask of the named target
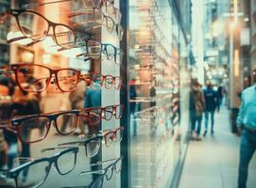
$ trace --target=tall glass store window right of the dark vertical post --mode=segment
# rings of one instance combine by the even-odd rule
[[[129,1],[131,187],[170,187],[188,132],[187,43],[168,1]]]

